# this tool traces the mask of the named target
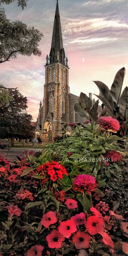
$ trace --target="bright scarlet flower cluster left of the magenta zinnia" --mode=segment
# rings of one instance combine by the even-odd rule
[[[38,166],[37,171],[40,173],[41,178],[46,179],[48,176],[53,182],[58,178],[62,179],[64,174],[68,175],[65,167],[55,161]]]

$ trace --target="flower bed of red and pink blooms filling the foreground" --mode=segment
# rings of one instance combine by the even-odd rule
[[[118,140],[99,125],[73,126],[39,157],[0,157],[0,256],[127,255],[127,210],[111,191],[125,177]]]

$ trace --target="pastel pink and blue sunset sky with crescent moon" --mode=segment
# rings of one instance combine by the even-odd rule
[[[69,60],[70,93],[95,93],[93,81],[109,88],[117,71],[125,67],[123,89],[128,86],[128,0],[58,0],[65,54]],[[17,2],[2,5],[7,18],[20,20],[43,33],[41,57],[21,56],[0,64],[0,83],[18,87],[28,99],[28,113],[38,117],[43,102],[46,55],[49,55],[56,0],[28,0],[22,11]],[[93,96],[96,99],[96,96]]]

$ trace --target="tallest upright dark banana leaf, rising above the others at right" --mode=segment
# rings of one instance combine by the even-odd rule
[[[125,67],[122,67],[117,73],[114,78],[113,84],[111,86],[111,96],[113,98],[113,101],[118,105],[119,103],[119,97],[122,90],[122,84],[125,77]]]

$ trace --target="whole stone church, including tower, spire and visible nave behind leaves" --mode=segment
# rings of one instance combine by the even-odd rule
[[[89,97],[93,102],[95,101],[92,99],[92,93]],[[51,142],[61,136],[64,123],[84,123],[86,119],[74,110],[74,105],[78,102],[79,96],[70,93],[68,58],[63,46],[57,0],[52,45],[49,56],[46,57],[43,105],[40,102],[36,124],[37,139]]]

